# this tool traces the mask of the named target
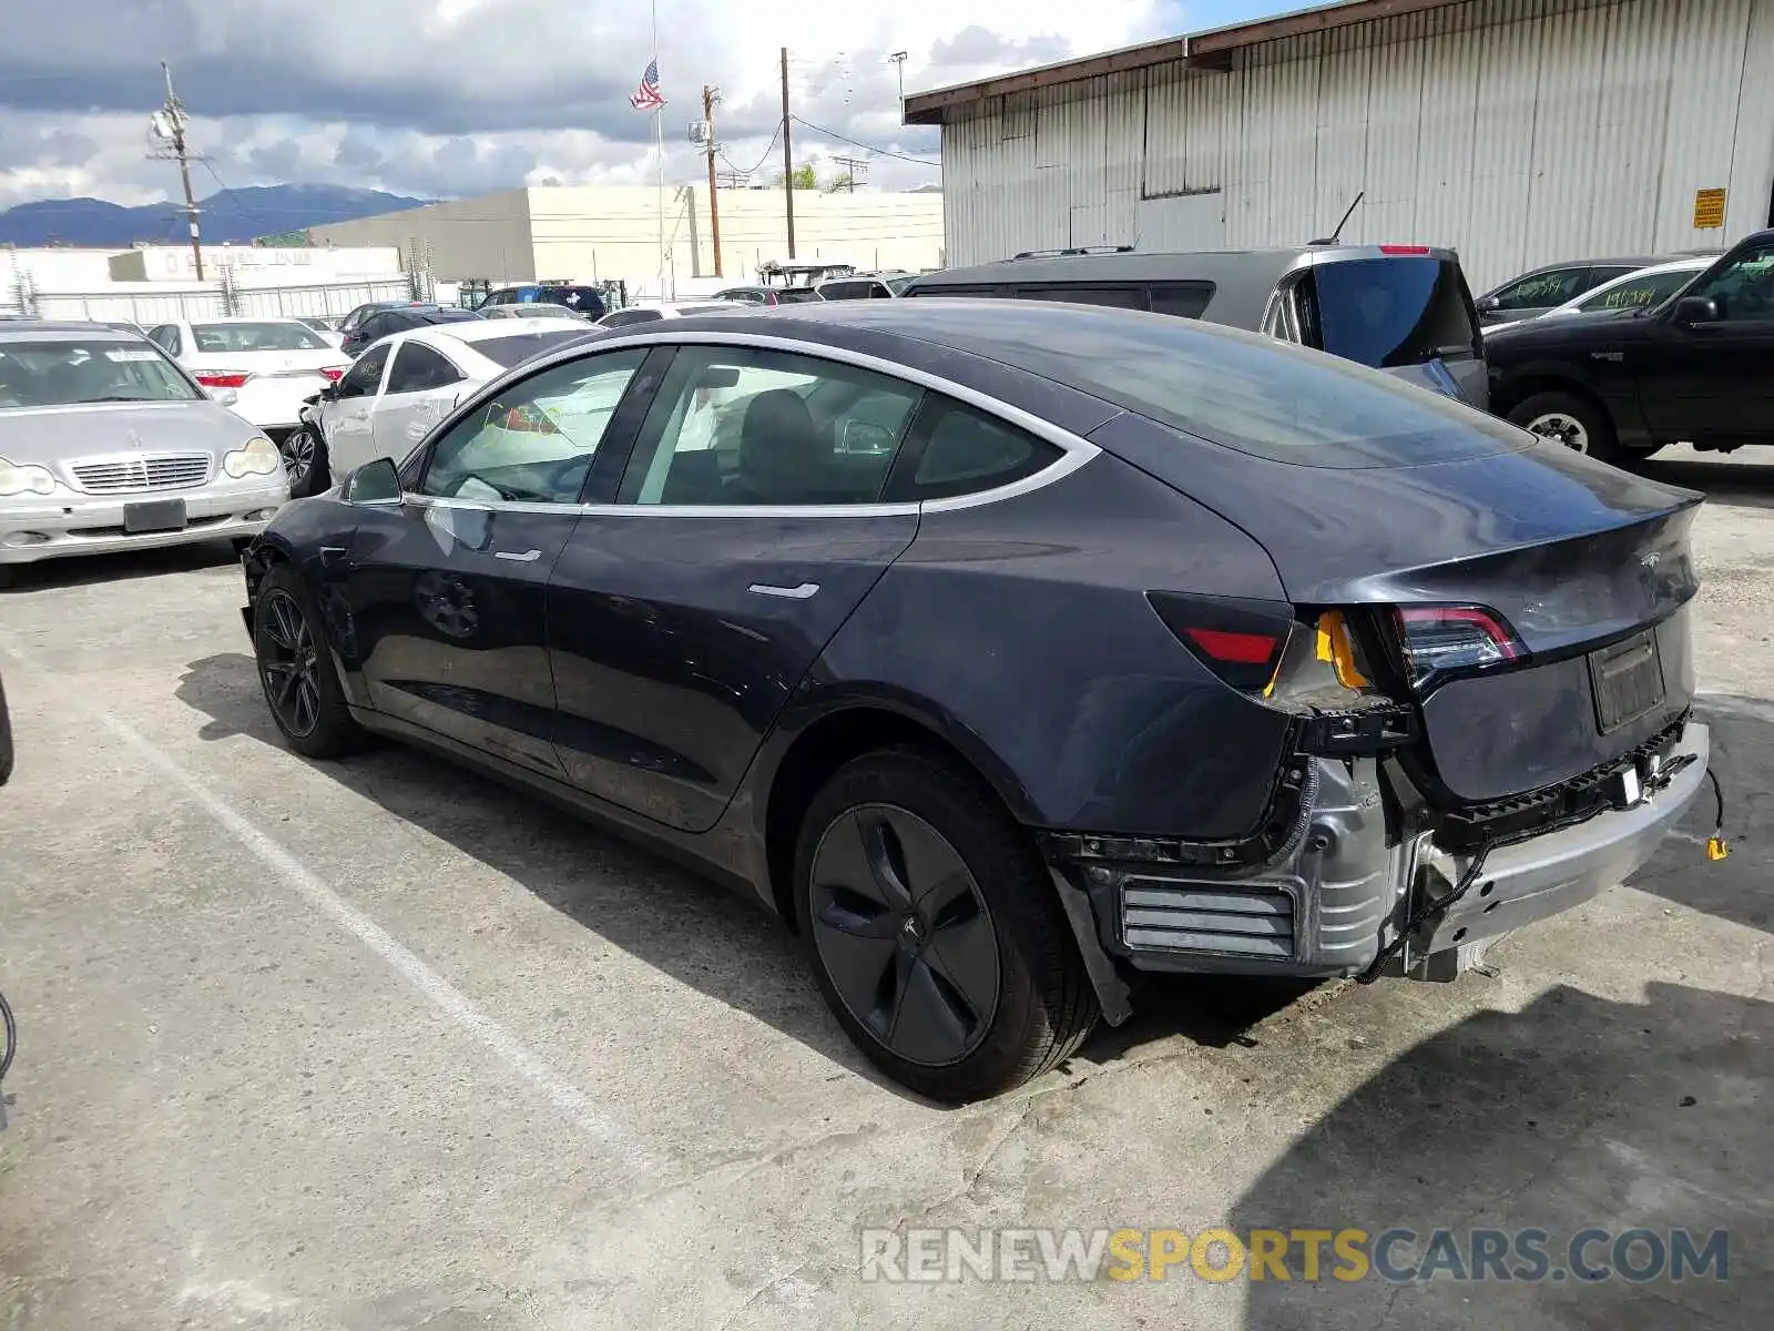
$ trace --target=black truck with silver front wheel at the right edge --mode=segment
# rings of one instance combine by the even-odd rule
[[[1499,328],[1485,358],[1497,415],[1605,461],[1774,442],[1774,231],[1660,305]]]

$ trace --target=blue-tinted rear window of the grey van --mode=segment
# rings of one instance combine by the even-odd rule
[[[1478,353],[1460,264],[1449,259],[1343,259],[1313,268],[1306,335],[1361,366],[1391,369]]]

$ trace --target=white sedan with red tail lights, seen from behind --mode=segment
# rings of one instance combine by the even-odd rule
[[[234,392],[234,415],[273,440],[302,424],[302,403],[337,383],[351,358],[298,319],[216,318],[161,323],[149,341],[211,394]]]

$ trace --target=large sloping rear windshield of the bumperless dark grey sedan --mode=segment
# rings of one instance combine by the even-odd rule
[[[1515,426],[1451,398],[1261,334],[1164,314],[1077,311],[1063,339],[1054,328],[1043,339],[992,319],[985,303],[979,311],[976,350],[985,355],[1274,461],[1412,467],[1526,444]]]

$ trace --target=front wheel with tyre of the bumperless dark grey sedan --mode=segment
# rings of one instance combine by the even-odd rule
[[[271,721],[291,749],[303,758],[342,758],[364,747],[314,589],[289,564],[279,564],[259,584],[252,650]]]

